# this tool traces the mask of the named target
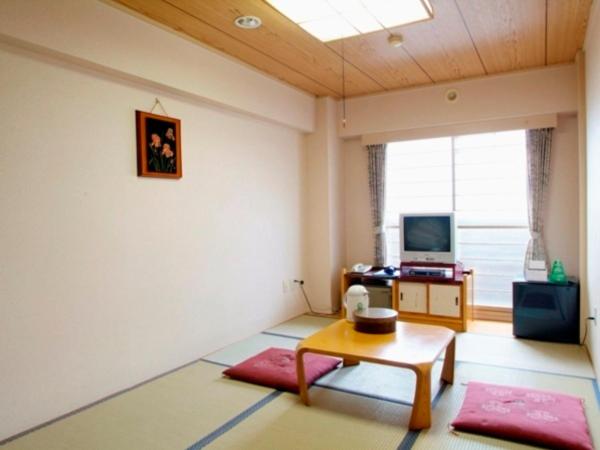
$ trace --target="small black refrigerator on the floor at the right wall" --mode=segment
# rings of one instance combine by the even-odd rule
[[[541,341],[579,343],[579,284],[513,282],[513,334]]]

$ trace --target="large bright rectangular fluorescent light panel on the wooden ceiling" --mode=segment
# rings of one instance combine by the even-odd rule
[[[429,0],[266,0],[322,41],[433,18]]]

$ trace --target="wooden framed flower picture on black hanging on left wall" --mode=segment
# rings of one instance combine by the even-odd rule
[[[135,123],[138,176],[181,178],[181,121],[136,111]]]

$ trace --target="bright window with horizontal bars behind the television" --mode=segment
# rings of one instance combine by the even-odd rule
[[[458,258],[475,270],[476,305],[510,307],[529,240],[523,130],[388,144],[388,263],[400,263],[400,213],[446,211]]]

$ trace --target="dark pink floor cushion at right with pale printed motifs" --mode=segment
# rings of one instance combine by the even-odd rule
[[[470,382],[451,425],[549,448],[594,448],[583,400],[556,392]]]

